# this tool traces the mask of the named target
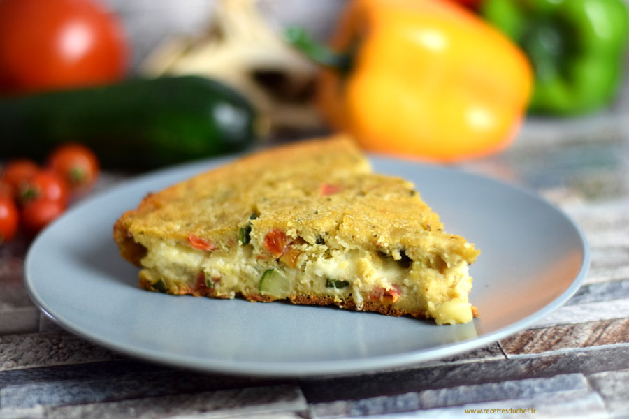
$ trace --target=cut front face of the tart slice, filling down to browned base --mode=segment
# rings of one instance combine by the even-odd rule
[[[250,235],[261,236],[256,230]],[[463,258],[426,263],[403,252],[331,249],[321,240],[308,243],[286,235],[270,239],[275,236],[282,233],[271,230],[261,246],[257,240],[240,241],[229,250],[136,237],[147,249],[141,260],[142,285],[172,294],[265,302],[288,298],[359,311],[382,304],[388,307],[386,314],[435,318],[438,324],[472,320],[472,278]]]

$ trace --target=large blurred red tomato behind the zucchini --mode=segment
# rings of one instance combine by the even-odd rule
[[[106,84],[126,63],[117,18],[94,1],[0,1],[0,91]]]

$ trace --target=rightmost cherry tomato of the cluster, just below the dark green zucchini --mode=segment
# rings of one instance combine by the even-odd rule
[[[66,144],[50,154],[48,166],[66,180],[71,191],[85,191],[99,177],[99,161],[89,148],[80,144]]]

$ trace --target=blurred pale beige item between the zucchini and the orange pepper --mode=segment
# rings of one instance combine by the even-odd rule
[[[316,66],[284,41],[253,0],[218,0],[207,29],[167,38],[140,73],[220,80],[240,91],[276,132],[321,126],[311,101]]]

